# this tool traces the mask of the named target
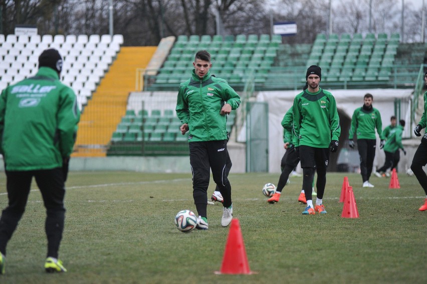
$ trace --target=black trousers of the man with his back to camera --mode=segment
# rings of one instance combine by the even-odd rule
[[[0,252],[6,255],[7,243],[24,214],[33,176],[36,179],[46,207],[47,256],[58,258],[65,219],[65,185],[62,168],[6,171],[9,205],[3,210],[2,217],[0,217]]]

